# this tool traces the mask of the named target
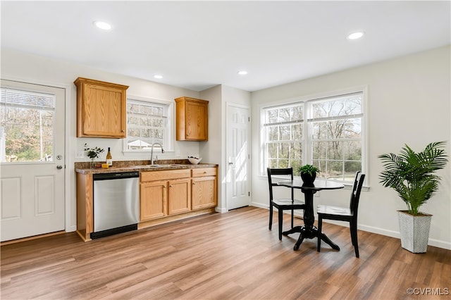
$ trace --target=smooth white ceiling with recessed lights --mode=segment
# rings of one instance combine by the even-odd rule
[[[195,91],[252,92],[450,44],[450,3],[2,0],[1,48]],[[365,37],[347,40],[354,30]]]

